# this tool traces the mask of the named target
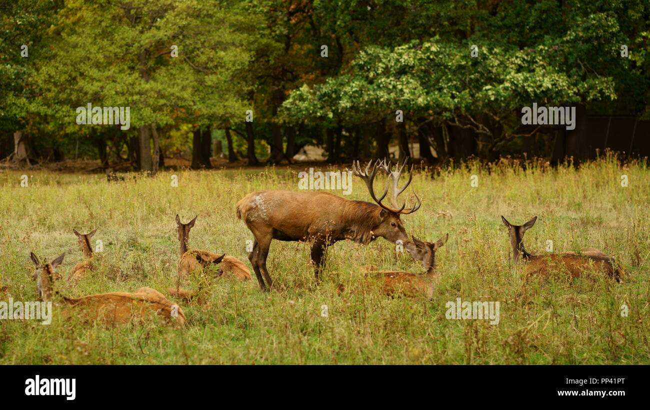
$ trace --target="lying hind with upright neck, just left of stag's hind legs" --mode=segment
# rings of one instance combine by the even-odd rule
[[[176,215],[176,231],[178,232],[178,241],[180,242],[179,254],[181,260],[178,263],[179,277],[185,278],[188,274],[194,274],[200,271],[200,268],[205,269],[210,263],[221,263],[220,270],[217,276],[234,277],[244,282],[250,280],[250,271],[246,264],[234,256],[226,256],[226,254],[215,254],[207,250],[191,249],[188,250],[187,244],[190,239],[190,229],[196,223],[196,217],[189,221],[187,224],[181,223],[181,219]]]

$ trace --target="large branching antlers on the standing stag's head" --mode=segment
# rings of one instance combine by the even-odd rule
[[[408,160],[408,158],[406,158],[406,160]],[[406,160],[404,161],[401,167],[399,167],[398,164],[398,168],[399,168],[398,171],[391,171],[386,160],[383,161],[377,160],[374,163],[374,167],[372,168],[372,173],[370,173],[370,165],[372,164],[372,161],[368,162],[368,165],[366,165],[365,172],[361,169],[361,166],[359,165],[358,161],[356,163],[352,162],[352,174],[358,176],[363,180],[363,182],[365,182],[366,186],[368,187],[368,191],[370,192],[370,197],[372,197],[374,202],[377,202],[379,206],[381,206],[383,209],[387,211],[391,211],[395,213],[403,213],[406,215],[408,213],[413,213],[417,211],[422,204],[422,200],[420,199],[420,197],[418,197],[417,194],[415,194],[417,203],[415,204],[415,206],[413,206],[413,208],[409,208],[405,210],[404,208],[406,207],[406,202],[402,204],[401,208],[398,208],[397,196],[400,195],[400,193],[404,192],[404,189],[406,189],[409,186],[409,184],[411,184],[411,180],[413,179],[413,167],[411,167],[411,171],[409,172],[408,182],[406,182],[406,185],[404,185],[401,189],[398,188],[397,184],[400,180],[400,176],[402,176],[402,171],[404,170],[404,166],[406,165]],[[389,176],[389,179],[386,184],[386,189],[383,191],[382,197],[380,199],[377,199],[376,195],[374,194],[374,189],[372,187],[372,182],[374,181],[374,177],[377,175],[378,169],[383,169],[383,171],[385,171]],[[389,186],[391,186],[391,182],[393,186],[393,189],[391,191],[392,206],[389,206],[389,205],[382,204],[382,200],[386,197],[386,194],[388,193],[388,188]]]

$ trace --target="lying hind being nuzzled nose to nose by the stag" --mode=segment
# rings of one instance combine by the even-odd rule
[[[428,299],[434,294],[434,287],[439,282],[441,272],[435,264],[435,251],[447,242],[449,234],[441,237],[434,243],[420,241],[412,237],[413,242],[406,245],[406,250],[413,257],[422,262],[427,271],[424,274],[400,271],[376,271],[375,267],[366,268],[366,283],[369,286],[378,283],[382,293],[387,296],[404,295],[417,297],[426,295]],[[343,291],[343,285],[339,285],[339,292]]]

